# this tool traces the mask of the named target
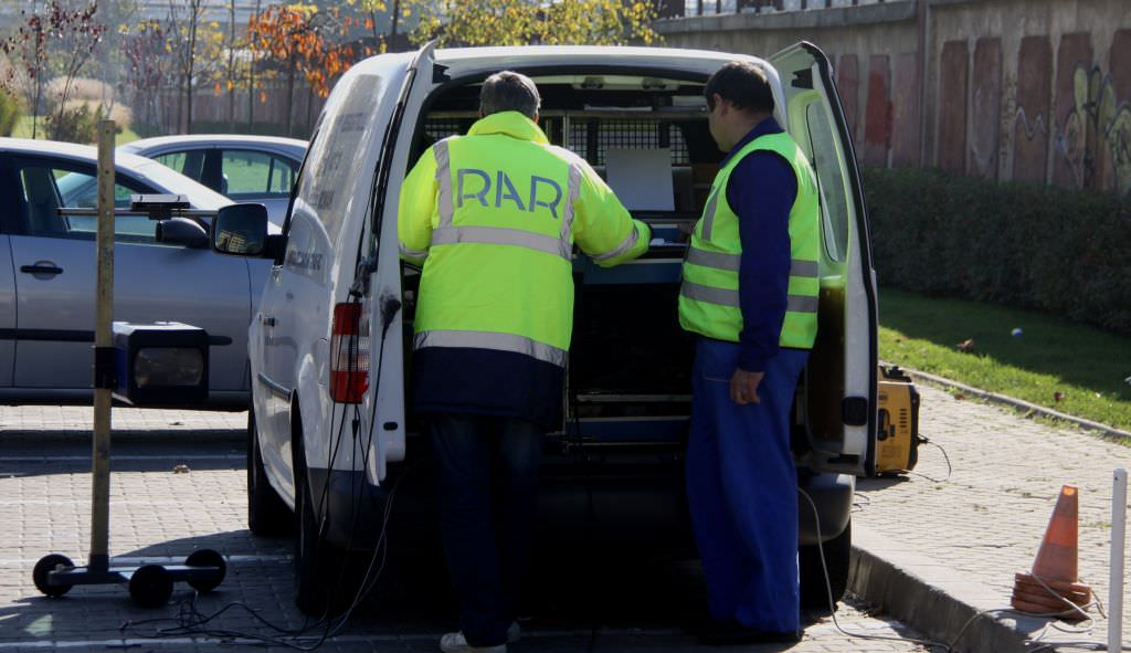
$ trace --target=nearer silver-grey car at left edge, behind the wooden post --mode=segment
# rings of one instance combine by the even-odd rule
[[[58,209],[96,206],[96,165],[94,147],[0,138],[0,402],[90,401],[96,220]],[[115,204],[153,192],[198,209],[231,204],[149,158],[115,154]],[[156,224],[115,221],[114,319],[206,329],[209,405],[243,407],[248,323],[270,261],[218,256],[202,229],[163,230],[158,241]]]

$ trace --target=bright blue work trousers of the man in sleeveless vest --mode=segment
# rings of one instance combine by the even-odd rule
[[[700,338],[696,351],[688,500],[711,617],[792,633],[800,625],[797,472],[789,407],[804,350],[782,349],[758,387],[761,403],[731,401],[739,345]]]

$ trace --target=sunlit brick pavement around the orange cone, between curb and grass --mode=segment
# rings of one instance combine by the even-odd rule
[[[916,472],[923,475],[858,483],[855,523],[884,542],[880,549],[938,561],[960,574],[955,581],[983,590],[992,607],[1007,607],[1013,573],[1033,565],[1061,486],[1076,484],[1080,577],[1106,602],[1112,470],[1131,469],[1131,443],[1055,428],[932,387],[920,390],[921,431],[949,454],[950,479],[941,480],[947,465],[940,450],[922,447]],[[1124,641],[1131,638],[1129,621]],[[1068,638],[1103,641],[1106,628],[1097,616],[1090,637]]]

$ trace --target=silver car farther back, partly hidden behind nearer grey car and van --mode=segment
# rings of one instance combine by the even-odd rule
[[[307,141],[233,134],[161,136],[118,151],[153,158],[233,201],[262,204],[271,222],[282,225]]]

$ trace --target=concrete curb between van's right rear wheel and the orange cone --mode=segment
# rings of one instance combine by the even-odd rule
[[[848,590],[948,651],[1025,653],[1048,619],[1008,609],[984,582],[853,524]]]

